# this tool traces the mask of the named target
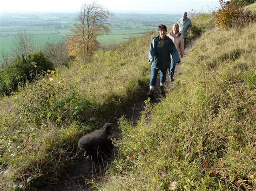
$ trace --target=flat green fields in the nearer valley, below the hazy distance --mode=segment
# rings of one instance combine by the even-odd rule
[[[102,45],[114,45],[127,41],[130,37],[145,34],[147,31],[154,30],[154,27],[145,27],[137,24],[120,24],[110,27],[110,33],[98,37]],[[38,49],[44,47],[46,43],[58,43],[64,40],[70,33],[70,29],[52,29],[50,27],[0,27],[0,51],[11,53],[15,36],[18,32],[26,31],[32,34],[35,46]]]

